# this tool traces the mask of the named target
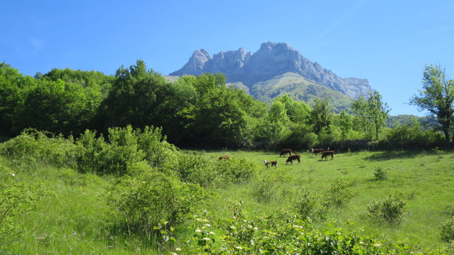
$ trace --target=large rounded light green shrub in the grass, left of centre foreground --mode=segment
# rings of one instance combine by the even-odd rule
[[[149,169],[118,178],[110,190],[109,204],[128,229],[149,233],[162,221],[168,228],[183,222],[204,196],[199,185]]]

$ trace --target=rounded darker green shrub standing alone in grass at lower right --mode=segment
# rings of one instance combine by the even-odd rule
[[[367,207],[369,216],[399,225],[405,216],[406,204],[405,201],[389,195],[385,200],[373,201]]]

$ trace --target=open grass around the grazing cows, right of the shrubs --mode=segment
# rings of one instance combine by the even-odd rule
[[[352,184],[354,197],[343,208],[330,208],[328,218],[342,228],[363,228],[365,234],[387,240],[406,240],[417,247],[441,245],[440,223],[454,215],[454,164],[453,153],[443,152],[360,152],[339,153],[334,160],[321,160],[313,153],[294,152],[302,155],[301,165],[285,164],[286,157],[279,153],[213,152],[213,157],[228,154],[232,158],[247,156],[262,165],[262,175],[276,172],[282,181],[276,184],[281,196],[269,203],[257,203],[253,197],[254,184],[235,186],[222,192],[227,201],[243,200],[249,211],[273,211],[292,206],[292,195],[297,189],[306,188],[315,194],[336,180]],[[278,160],[277,169],[266,167],[263,160]],[[376,168],[386,171],[388,178],[378,180]],[[393,195],[406,201],[407,214],[400,226],[383,224],[366,217],[367,205]],[[222,203],[221,203],[222,205]],[[219,211],[222,208],[218,208]],[[346,225],[352,222],[354,225]]]

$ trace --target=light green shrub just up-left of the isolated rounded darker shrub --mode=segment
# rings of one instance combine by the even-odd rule
[[[351,183],[343,180],[337,180],[325,188],[325,206],[334,205],[338,208],[345,206],[354,196]]]

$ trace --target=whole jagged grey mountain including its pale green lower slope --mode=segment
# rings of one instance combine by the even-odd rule
[[[224,73],[228,84],[261,101],[284,94],[304,101],[330,94],[348,103],[372,91],[367,79],[341,78],[286,43],[263,43],[255,53],[240,48],[211,56],[203,49],[196,50],[188,63],[169,76],[198,76],[207,72]]]

